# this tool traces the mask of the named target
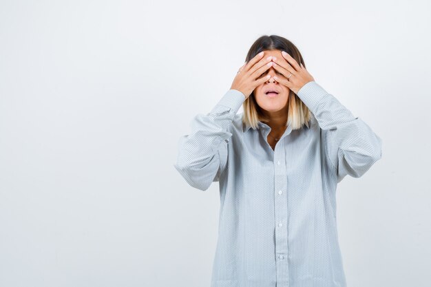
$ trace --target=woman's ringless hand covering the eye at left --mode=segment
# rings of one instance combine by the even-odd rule
[[[246,98],[249,98],[255,87],[269,80],[270,75],[259,78],[273,64],[272,56],[262,59],[263,56],[264,52],[262,51],[240,67],[239,73],[233,79],[231,89],[236,89],[242,92]]]

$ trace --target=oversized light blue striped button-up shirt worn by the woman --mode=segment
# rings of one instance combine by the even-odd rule
[[[174,167],[188,184],[220,186],[211,287],[346,287],[335,191],[381,158],[381,138],[315,81],[297,96],[309,127],[288,125],[274,150],[269,125],[242,123],[235,89],[178,142]]]

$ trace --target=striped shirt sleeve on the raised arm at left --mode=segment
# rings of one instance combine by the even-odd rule
[[[229,89],[207,115],[191,120],[189,135],[180,137],[174,167],[191,187],[206,191],[219,180],[227,162],[231,123],[244,100],[242,92]]]

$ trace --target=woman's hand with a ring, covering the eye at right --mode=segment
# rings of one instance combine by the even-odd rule
[[[301,89],[306,83],[315,81],[313,76],[306,70],[302,65],[298,65],[297,61],[287,53],[281,53],[282,58],[275,58],[273,56],[273,67],[277,72],[280,72],[282,76],[274,76],[274,80],[278,83],[285,85],[295,94]],[[289,78],[288,76],[292,74]]]

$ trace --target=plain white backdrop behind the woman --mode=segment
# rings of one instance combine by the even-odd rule
[[[383,141],[337,189],[348,286],[430,286],[430,8],[0,1],[0,286],[209,286],[218,183],[187,185],[177,144],[264,34]]]

